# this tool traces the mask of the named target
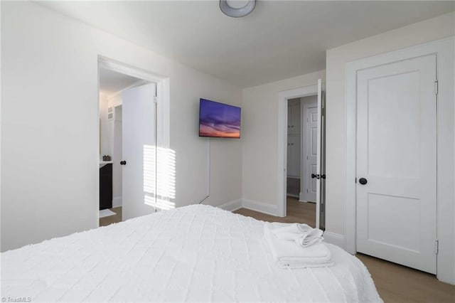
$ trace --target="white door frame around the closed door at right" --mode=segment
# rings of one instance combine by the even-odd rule
[[[356,144],[358,70],[394,63],[423,55],[437,56],[437,278],[455,284],[455,130],[454,130],[454,46],[451,36],[419,46],[403,48],[346,63],[346,179],[345,248],[356,250]]]

